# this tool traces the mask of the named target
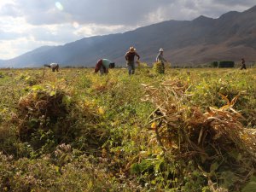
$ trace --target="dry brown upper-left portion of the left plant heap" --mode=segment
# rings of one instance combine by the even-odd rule
[[[18,103],[20,136],[26,137],[39,128],[49,129],[59,119],[66,119],[70,105],[73,105],[71,97],[63,90],[54,90],[51,86],[32,88]]]

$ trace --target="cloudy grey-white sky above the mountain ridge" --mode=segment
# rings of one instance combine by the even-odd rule
[[[256,0],[0,0],[0,59],[163,20],[218,18]]]

